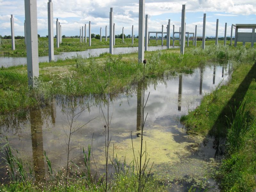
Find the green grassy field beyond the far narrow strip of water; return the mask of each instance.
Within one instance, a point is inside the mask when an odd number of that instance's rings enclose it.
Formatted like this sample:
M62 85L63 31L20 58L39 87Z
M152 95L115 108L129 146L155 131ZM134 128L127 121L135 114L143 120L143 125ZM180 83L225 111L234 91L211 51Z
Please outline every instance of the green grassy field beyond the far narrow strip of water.
M224 44L224 41L218 41L219 44ZM206 45L214 44L215 41L206 41ZM226 44L230 42L227 41ZM172 44L172 40L171 40ZM197 41L197 45L200 46L202 44L201 41ZM155 40L150 40L149 46L157 46L161 45L161 41L158 40L156 44ZM166 40L164 40L164 45L166 45ZM175 41L175 46L179 45L179 41ZM189 41L189 45L192 46L192 41ZM242 45L241 42L238 42L238 46ZM249 48L251 43L246 43L246 48ZM134 44L132 45L132 39L125 38L124 43L122 39L116 38L116 45L114 47L128 47L134 46L138 47L138 39L134 39ZM255 45L256 46L256 45ZM54 54L60 54L60 52L77 52L77 51L85 51L87 49L97 49L97 48L108 48L109 47L109 39L106 42L105 39L102 39L100 42L99 39L92 38L92 46L89 46L89 40L87 38L87 43L80 43L79 38L62 38L62 43L60 44L60 48L56 47L56 38L54 38ZM12 57L26 57L26 45L24 39L15 39L15 51L12 51L11 39L1 39L0 44L0 56L4 56L4 52L9 52ZM48 38L39 37L38 38L38 54L39 56L47 56L48 55Z

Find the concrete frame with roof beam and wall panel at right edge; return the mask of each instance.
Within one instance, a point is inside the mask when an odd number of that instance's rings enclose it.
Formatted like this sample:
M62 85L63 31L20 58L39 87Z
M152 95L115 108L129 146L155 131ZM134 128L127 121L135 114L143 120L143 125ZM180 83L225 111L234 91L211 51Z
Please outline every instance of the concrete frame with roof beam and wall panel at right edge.
M256 42L256 35L255 35L255 28L256 24L236 24L232 25L233 29L236 29L235 32L235 47L237 45L237 42L243 42L245 45L245 42L251 42L251 47L254 46L254 43ZM238 32L238 29L252 29L252 32ZM231 39L232 39L232 31L231 31ZM232 44L232 41L230 42Z

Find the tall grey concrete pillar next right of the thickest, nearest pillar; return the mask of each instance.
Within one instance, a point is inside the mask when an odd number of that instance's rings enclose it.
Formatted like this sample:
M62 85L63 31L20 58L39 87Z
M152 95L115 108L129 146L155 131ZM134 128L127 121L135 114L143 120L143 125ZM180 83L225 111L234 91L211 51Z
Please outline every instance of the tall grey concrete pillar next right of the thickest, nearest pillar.
M53 3L52 3L52 0L49 0L49 2L48 2L48 46L49 46L49 61L50 62L52 60L54 60L54 45L53 44L54 44L53 43Z

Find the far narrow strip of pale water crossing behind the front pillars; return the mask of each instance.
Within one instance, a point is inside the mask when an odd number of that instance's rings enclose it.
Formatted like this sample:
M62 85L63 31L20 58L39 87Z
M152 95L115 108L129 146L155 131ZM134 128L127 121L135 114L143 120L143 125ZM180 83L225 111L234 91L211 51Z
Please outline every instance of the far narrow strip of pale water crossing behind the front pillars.
M179 46L174 46L171 48L179 48ZM150 46L148 47L148 51L156 51L167 49L166 46ZM54 55L55 60L58 59L66 59L72 58L77 54L82 55L83 57L89 58L91 56L98 57L101 53L109 53L109 48L101 48L101 49L88 49L86 51L80 52L61 52L60 55ZM117 47L114 48L114 54L125 54L125 53L133 53L138 52L138 47ZM39 57L39 62L49 62L49 57ZM0 67L10 67L16 65L25 65L27 64L26 57L0 57Z

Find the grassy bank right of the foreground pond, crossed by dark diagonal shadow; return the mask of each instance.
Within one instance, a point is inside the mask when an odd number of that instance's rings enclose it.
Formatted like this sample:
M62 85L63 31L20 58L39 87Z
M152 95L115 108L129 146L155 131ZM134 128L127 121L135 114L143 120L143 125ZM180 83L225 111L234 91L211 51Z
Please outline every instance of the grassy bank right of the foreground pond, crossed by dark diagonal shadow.
M203 51L200 54L204 54ZM220 52L234 58L234 72L227 85L201 101L181 118L189 132L225 140L226 153L217 172L222 191L254 191L256 188L256 51ZM231 59L230 58L230 59ZM243 104L246 105L243 108ZM239 103L242 102L242 105ZM240 106L240 109L238 109ZM243 111L244 110L244 111ZM229 119L229 120L228 120Z

